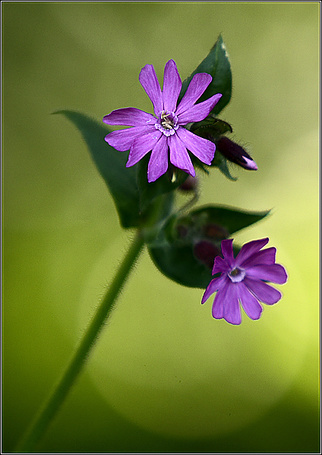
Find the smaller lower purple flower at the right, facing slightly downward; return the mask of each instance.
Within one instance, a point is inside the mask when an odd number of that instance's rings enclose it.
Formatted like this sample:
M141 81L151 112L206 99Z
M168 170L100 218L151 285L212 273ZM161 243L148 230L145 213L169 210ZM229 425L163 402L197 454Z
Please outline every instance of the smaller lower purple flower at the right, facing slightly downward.
M260 251L269 239L253 240L242 246L236 258L233 254L233 241L223 240L221 251L224 258L215 258L212 274L221 275L210 281L201 303L217 292L212 306L216 319L224 318L230 324L241 323L239 302L251 319L259 319L262 305L273 305L282 294L266 284L271 281L284 284L287 274L283 266L275 263L276 248Z

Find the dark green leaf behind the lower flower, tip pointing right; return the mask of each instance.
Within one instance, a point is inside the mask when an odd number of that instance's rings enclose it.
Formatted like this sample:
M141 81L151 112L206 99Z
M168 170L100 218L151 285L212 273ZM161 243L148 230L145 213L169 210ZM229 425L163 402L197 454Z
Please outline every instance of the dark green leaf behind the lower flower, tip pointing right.
M220 244L240 229L267 216L221 206L205 206L185 216L173 215L148 245L156 267L168 278L188 287L205 288ZM235 245L235 254L239 247Z

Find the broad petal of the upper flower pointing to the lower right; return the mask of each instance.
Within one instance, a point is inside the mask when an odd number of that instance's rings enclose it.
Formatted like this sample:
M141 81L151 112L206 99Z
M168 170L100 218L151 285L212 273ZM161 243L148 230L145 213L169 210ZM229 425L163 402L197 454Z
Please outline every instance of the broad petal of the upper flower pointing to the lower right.
M193 153L200 161L210 166L212 160L214 159L216 150L216 146L213 142L196 136L183 127L179 127L176 133L191 153Z

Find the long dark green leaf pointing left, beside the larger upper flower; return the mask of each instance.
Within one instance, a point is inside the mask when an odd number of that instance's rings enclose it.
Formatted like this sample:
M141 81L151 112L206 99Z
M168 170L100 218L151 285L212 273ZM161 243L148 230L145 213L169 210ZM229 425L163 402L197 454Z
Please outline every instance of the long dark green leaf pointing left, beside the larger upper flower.
M121 225L124 228L137 227L140 214L137 170L125 166L127 153L118 152L108 145L104 137L110 130L87 115L70 110L57 111L54 114L63 114L81 132L114 199Z

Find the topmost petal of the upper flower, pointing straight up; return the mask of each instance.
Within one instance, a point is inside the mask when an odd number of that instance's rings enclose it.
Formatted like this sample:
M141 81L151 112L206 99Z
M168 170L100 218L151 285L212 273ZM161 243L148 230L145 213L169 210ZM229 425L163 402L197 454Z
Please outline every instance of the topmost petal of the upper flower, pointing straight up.
M180 95L182 82L174 60L169 60L164 68L163 77L163 109L175 112Z

